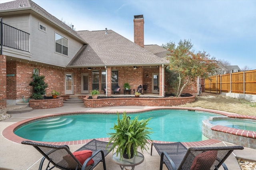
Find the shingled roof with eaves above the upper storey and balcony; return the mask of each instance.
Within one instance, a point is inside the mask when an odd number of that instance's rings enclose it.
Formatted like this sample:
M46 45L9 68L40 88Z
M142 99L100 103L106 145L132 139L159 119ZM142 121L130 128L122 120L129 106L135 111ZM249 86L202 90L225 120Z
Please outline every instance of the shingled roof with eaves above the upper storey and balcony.
M0 5L0 14L1 13L14 14L14 12L30 13L28 12L28 10L31 10L31 12L34 12L35 14L44 17L46 20L60 27L66 33L71 34L77 39L79 39L80 41L82 41L83 43L86 43L84 39L82 39L76 31L74 31L72 28L70 28L68 25L66 25L62 21L58 20L56 17L52 16L50 13L48 13L46 10L44 10L43 8L41 8L31 0L16 0L16 1L2 3Z

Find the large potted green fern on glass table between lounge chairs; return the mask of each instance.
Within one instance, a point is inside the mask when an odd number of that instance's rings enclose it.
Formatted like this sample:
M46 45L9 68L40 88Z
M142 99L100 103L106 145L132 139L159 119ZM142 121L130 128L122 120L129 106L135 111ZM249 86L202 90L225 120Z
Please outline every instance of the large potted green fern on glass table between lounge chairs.
M116 154L120 154L120 159L123 157L126 159L133 158L134 155L138 156L138 148L143 150L148 149L150 144L149 135L152 134L151 128L146 127L148 121L151 118L138 120L136 116L133 120L130 120L130 117L126 115L126 112L122 114L122 119L119 117L117 112L117 124L114 123L114 133L108 133L109 142L113 142L113 147L116 148Z

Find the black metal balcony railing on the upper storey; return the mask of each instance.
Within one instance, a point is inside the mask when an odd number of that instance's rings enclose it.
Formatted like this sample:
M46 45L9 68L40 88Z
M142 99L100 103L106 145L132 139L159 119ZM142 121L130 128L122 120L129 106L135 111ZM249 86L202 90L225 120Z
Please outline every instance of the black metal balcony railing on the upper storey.
M14 28L2 22L0 19L0 45L29 52L29 33Z

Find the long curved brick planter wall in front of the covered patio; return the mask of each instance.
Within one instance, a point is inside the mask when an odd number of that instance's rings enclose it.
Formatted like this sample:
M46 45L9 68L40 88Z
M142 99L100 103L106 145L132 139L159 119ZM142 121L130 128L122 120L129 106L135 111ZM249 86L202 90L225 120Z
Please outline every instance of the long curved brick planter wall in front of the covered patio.
M179 106L192 103L196 96L185 98L84 98L84 107L109 107L109 106Z

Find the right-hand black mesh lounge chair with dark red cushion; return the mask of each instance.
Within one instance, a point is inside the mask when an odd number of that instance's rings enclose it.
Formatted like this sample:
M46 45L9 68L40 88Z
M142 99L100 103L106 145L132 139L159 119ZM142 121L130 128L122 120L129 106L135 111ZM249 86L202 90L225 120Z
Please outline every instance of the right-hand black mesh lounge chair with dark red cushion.
M244 149L242 146L232 147L191 147L187 149L182 143L152 143L161 156L160 170L163 164L168 170L218 170L222 165L228 170L224 161L235 149Z

